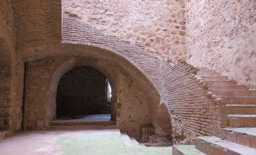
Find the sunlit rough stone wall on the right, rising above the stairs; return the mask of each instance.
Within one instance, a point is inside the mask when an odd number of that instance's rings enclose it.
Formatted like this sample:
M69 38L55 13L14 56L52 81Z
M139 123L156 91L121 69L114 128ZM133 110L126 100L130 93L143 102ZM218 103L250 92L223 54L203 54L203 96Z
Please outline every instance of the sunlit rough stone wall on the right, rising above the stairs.
M188 1L188 62L256 89L255 0Z

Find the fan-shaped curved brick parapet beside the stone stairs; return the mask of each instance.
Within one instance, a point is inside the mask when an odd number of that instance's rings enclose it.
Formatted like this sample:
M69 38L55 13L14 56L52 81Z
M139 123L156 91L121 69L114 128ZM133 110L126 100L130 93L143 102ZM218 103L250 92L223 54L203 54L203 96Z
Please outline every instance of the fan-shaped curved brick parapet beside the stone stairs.
M192 144L196 136L220 136L221 128L227 125L225 100L211 95L210 85L196 75L197 71L183 60L176 65L161 62L162 99L171 113L176 144Z

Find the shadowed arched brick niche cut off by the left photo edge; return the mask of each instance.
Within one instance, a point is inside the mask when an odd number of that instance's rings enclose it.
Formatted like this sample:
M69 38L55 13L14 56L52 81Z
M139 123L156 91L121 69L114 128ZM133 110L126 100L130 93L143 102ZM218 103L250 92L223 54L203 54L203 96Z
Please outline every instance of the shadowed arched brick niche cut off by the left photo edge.
M0 37L0 130L10 128L12 57L6 39Z

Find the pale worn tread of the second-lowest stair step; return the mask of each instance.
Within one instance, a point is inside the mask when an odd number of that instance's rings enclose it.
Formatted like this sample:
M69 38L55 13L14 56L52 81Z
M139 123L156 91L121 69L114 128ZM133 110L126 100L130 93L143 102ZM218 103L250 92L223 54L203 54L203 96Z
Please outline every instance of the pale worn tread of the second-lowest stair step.
M218 138L215 136L200 136L198 138L205 142L214 144L215 147L231 150L231 151L240 153L241 155L255 155L255 152L256 152L255 148L244 146L235 142L230 142L225 139L222 140L221 138Z

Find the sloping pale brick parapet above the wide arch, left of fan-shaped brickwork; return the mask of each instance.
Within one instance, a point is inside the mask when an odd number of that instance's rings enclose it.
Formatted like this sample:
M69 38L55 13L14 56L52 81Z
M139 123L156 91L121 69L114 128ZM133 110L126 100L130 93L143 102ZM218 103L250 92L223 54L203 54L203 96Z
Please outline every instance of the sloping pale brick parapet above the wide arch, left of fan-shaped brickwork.
M94 43L102 48L116 51L117 54L130 59L130 62L133 65L136 64L142 72L144 71L143 73L148 75L153 84L159 85L159 59L143 50L144 47L141 44L125 42L114 36L105 35L84 24L79 18L70 13L63 14L62 29L62 43Z

